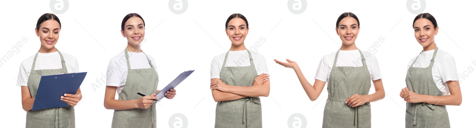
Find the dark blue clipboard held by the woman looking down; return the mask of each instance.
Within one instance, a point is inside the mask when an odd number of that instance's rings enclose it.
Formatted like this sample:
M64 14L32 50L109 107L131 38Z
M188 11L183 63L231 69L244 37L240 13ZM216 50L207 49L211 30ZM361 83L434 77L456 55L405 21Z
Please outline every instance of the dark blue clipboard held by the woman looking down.
M42 76L36 93L33 109L49 109L68 107L69 104L61 101L64 94L76 94L83 83L87 72Z

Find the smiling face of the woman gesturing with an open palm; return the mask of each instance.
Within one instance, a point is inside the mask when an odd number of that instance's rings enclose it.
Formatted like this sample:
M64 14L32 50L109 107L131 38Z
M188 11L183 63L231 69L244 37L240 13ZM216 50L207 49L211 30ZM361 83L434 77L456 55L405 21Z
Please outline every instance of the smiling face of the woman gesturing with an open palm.
M355 43L357 39L360 27L358 22L353 17L345 17L339 22L339 26L336 28L337 35L339 35L342 43L350 45Z

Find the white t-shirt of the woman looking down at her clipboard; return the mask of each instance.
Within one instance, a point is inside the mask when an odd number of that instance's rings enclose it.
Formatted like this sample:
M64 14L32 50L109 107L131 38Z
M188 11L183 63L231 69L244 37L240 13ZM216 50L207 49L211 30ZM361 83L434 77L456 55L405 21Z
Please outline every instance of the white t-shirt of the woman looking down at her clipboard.
M61 54L63 55L63 59L65 61L68 72L78 72L79 68L76 57L64 52L61 52ZM33 59L35 59L35 55L32 55L21 62L20 71L18 71L17 86L28 86L28 77L30 77L31 66L33 66ZM50 53L38 53L34 70L59 68L63 68L63 65L61 65L61 57L58 51Z

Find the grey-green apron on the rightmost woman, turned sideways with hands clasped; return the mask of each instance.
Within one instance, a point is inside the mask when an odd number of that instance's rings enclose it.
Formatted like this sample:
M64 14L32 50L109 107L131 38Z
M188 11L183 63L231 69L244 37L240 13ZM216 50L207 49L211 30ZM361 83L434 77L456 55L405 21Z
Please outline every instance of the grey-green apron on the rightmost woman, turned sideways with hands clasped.
M435 62L436 52L435 48L433 58L431 58L430 65L426 68L416 68L413 61L407 71L407 87L410 91L417 94L442 96L441 91L436 87L433 81L432 68ZM420 52L421 53L421 52ZM406 128L450 128L448 112L445 105L434 105L425 102L407 103L407 114L405 116Z

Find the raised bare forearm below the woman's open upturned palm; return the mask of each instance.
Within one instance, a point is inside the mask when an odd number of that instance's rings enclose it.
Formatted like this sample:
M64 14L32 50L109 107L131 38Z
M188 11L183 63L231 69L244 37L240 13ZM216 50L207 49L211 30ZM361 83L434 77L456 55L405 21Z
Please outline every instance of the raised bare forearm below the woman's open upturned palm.
M320 93L317 94L316 89L313 85L309 83L309 81L307 81L306 77L304 77L304 74L302 73L301 68L299 68L299 66L296 65L296 67L293 69L296 72L297 78L299 79L299 82L301 82L302 88L306 92L309 99L311 101L315 101L317 97L319 97Z

